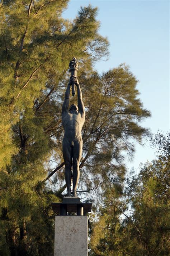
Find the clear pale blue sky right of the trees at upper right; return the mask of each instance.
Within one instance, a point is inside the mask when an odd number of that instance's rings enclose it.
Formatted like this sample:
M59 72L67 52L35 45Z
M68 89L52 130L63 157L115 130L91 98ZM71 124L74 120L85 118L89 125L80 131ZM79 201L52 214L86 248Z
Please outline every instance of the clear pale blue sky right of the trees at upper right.
M152 113L142 125L152 133L169 131L169 1L71 0L63 17L74 18L80 6L89 3L98 6L99 32L110 42L109 60L96 63L95 68L102 72L128 64L139 80L143 105ZM151 161L154 154L153 149L136 144L128 167L137 170L140 162Z

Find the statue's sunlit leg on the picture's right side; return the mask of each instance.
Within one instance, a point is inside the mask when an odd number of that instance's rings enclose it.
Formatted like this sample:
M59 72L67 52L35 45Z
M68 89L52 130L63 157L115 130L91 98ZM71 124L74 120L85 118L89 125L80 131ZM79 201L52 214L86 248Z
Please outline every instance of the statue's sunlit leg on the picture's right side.
M77 196L77 184L80 177L80 171L79 171L79 163L81 160L81 154L82 154L82 140L77 140L74 144L74 147L72 148L72 184L73 184L73 190L72 190L72 196Z

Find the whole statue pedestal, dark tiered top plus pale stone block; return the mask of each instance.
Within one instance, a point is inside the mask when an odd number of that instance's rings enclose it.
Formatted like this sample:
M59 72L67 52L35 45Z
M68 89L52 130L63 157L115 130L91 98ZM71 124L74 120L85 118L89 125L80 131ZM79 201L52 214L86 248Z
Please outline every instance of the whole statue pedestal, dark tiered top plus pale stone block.
M81 203L79 197L64 197L63 203L51 204L55 216L54 256L88 255L88 217L91 203ZM69 215L67 215L69 212ZM71 216L71 212L77 215Z

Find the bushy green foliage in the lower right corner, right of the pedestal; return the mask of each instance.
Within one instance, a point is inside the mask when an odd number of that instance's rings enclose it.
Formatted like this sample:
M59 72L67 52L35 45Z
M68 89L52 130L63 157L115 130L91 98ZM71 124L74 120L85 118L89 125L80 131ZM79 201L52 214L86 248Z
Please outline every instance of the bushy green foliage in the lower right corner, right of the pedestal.
M141 166L138 175L132 173L123 193L108 189L93 224L91 255L169 255L168 137L151 138L152 146L160 146L158 159Z

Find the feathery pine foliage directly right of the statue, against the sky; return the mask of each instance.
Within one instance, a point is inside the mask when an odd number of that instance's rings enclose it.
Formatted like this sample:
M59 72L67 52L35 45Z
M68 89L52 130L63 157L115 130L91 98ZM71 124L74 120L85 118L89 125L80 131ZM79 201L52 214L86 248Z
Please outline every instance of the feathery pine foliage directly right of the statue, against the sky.
M123 181L122 152L133 156L132 139L141 142L141 138L147 135L147 129L139 122L150 116L150 112L143 109L138 99L137 80L124 64L102 75L83 72L80 85L86 109L80 190L88 191L93 185L98 187L95 193L99 192L100 198L110 181L116 184Z

